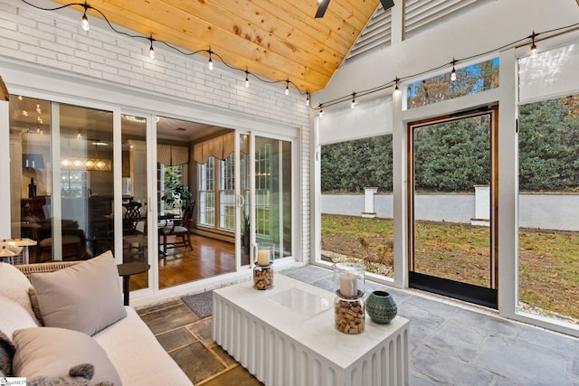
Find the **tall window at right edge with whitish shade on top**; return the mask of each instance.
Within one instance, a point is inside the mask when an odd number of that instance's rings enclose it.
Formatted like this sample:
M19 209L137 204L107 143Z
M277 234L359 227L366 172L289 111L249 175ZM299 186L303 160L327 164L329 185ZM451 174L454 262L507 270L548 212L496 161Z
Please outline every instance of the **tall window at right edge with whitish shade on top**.
M518 310L574 324L579 324L578 63L576 43L518 61Z

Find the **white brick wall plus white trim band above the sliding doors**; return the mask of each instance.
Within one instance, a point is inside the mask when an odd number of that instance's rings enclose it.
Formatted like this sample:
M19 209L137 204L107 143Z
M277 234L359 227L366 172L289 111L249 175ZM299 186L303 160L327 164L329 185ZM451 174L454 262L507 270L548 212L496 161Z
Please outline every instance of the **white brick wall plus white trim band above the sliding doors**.
M47 0L34 4L56 6ZM299 207L294 227L299 233L294 254L307 261L310 111L305 99L291 89L286 96L285 82L271 85L252 80L247 89L243 71L231 71L215 58L214 71L209 71L206 57L185 56L161 43L155 44L156 58L151 60L147 40L114 33L94 17L90 17L90 31L84 32L80 16L78 10L47 12L20 1L0 0L0 75L8 90L33 98L72 104L80 100L87 106L255 130L271 137L296 133L294 193ZM7 115L0 112L0 118L0 127L7 132ZM9 165L8 151L2 152L4 181L9 181ZM8 216L0 221L0 229L10 229Z

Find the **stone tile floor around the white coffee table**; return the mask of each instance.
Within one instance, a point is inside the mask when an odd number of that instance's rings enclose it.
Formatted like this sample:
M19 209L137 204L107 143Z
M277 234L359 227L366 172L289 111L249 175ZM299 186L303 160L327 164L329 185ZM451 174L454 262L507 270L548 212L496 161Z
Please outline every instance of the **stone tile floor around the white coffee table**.
M331 289L330 270L282 272ZM441 301L366 281L365 292L390 292L409 319L411 385L579 385L579 340L504 319L475 306ZM211 338L211 316L199 318L178 299L138 310L195 385L261 385Z

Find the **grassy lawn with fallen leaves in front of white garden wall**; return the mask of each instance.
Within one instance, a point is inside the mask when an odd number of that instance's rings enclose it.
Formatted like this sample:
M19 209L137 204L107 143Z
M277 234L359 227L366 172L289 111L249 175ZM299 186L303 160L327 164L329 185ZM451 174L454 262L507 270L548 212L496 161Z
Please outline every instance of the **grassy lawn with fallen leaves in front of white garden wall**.
M489 228L423 221L415 237L417 272L489 286ZM392 277L393 241L392 220L322 215L322 249L335 261ZM579 232L519 232L519 297L546 315L579 319Z

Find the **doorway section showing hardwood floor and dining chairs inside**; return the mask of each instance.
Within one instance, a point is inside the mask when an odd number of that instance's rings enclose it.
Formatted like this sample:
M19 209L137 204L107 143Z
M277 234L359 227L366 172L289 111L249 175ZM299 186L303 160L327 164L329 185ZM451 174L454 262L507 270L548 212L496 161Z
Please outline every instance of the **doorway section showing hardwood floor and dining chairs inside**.
M156 123L159 287L234 272L234 130L165 117Z

